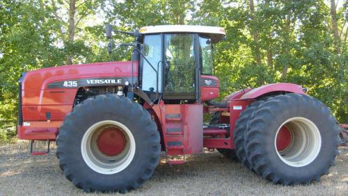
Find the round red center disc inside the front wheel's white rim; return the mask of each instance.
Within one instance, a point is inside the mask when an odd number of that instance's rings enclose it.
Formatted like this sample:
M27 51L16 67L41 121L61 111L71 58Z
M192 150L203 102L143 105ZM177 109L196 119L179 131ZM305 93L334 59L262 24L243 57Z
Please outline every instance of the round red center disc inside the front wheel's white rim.
M126 142L122 131L116 128L107 128L98 136L97 146L102 154L117 156L125 149Z

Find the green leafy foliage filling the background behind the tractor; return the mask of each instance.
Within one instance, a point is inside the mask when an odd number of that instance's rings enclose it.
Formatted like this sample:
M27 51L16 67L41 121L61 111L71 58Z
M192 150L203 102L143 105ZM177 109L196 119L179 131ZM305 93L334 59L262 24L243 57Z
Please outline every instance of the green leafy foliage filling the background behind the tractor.
M22 72L64 65L67 56L73 63L130 59L124 47L107 54L104 26L109 23L121 31L158 24L221 26L226 40L214 46L221 98L264 83L298 83L329 106L339 122L348 123L347 2L335 15L338 52L330 3L324 0L254 1L253 14L250 0L77 0L72 42L68 41L68 1L0 2L0 140L15 136L17 79ZM116 44L132 41L127 35L114 38ZM261 63L255 60L257 51Z

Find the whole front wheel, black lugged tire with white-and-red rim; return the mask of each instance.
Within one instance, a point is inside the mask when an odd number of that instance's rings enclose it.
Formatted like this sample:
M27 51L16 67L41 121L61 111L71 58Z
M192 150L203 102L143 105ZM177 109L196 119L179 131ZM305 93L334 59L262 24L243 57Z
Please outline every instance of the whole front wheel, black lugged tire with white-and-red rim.
M56 142L65 177L86 192L138 188L152 176L161 150L150 114L134 101L111 94L75 106Z

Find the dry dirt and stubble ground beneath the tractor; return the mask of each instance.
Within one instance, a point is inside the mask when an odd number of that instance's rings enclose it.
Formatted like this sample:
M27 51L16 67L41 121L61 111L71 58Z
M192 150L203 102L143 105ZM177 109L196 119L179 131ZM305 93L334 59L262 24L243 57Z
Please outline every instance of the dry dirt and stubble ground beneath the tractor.
M0 146L0 195L97 195L65 179L54 149L31 156L28 145ZM153 177L127 195L348 195L348 147L340 152L330 174L310 186L274 185L219 152L189 156L187 164L176 166L162 157Z

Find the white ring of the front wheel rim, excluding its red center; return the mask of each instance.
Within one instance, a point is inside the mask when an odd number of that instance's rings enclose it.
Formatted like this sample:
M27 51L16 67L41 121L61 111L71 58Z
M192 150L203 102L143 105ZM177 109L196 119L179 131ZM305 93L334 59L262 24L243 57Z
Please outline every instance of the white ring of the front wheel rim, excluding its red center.
M117 127L117 129L122 130L127 140L127 145L121 154L117 156L106 156L100 154L100 152L95 149L93 133L100 129L105 129L105 127ZM86 133L84 133L84 137L81 141L81 154L85 163L90 169L100 174L116 174L125 170L132 162L135 150L136 145L132 132L124 124L113 120L104 120L93 124L88 128Z

